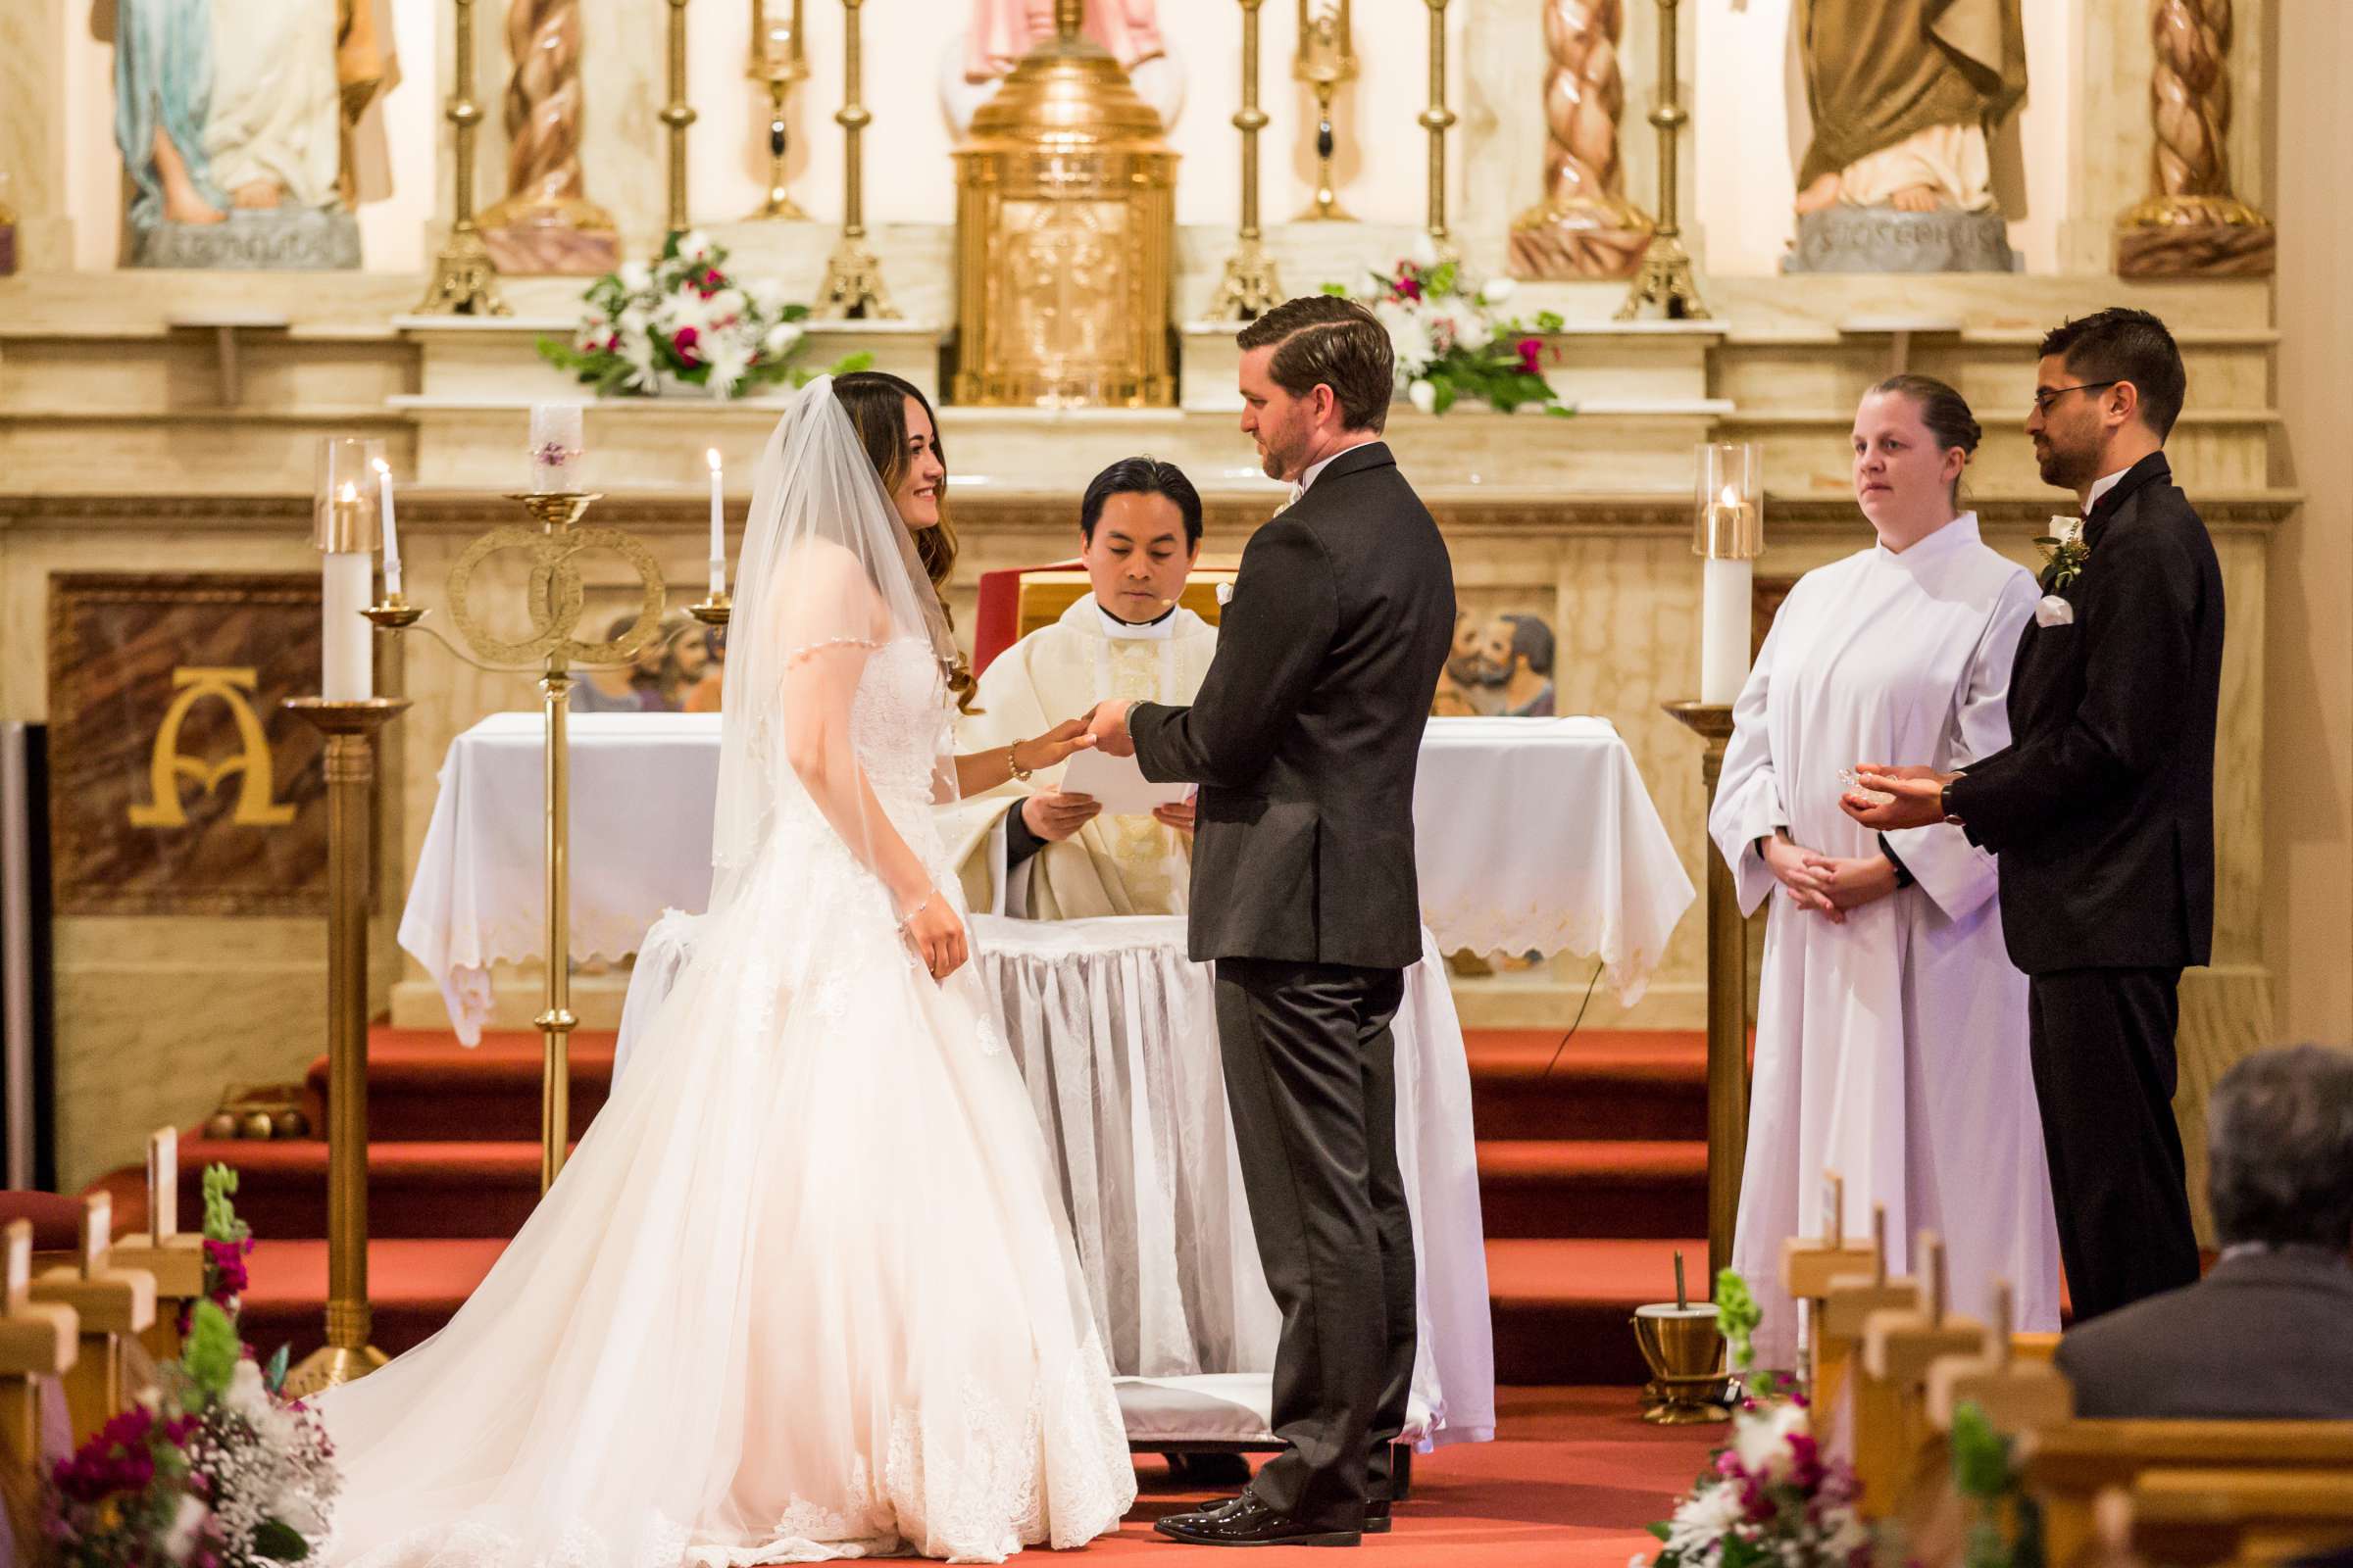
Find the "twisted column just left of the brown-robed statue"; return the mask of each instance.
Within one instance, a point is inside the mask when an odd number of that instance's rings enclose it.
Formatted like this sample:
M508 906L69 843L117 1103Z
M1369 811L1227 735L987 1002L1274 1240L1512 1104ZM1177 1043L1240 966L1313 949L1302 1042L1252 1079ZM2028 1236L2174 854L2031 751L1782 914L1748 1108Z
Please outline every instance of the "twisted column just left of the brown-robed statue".
M1624 0L1544 5L1544 202L1511 226L1520 277L1631 277L1649 219L1626 200L1619 122Z

